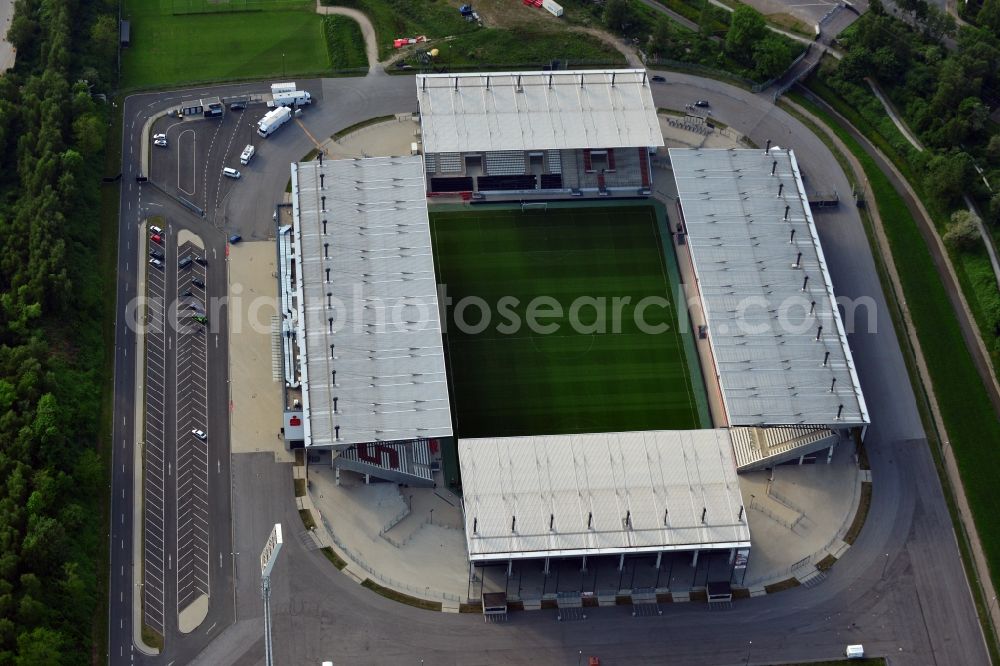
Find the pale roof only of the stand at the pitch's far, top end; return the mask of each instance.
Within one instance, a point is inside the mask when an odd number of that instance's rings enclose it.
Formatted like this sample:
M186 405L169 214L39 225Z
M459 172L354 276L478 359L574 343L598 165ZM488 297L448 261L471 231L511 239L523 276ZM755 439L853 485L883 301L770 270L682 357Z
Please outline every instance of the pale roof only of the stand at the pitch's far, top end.
M420 74L424 152L662 146L645 70Z

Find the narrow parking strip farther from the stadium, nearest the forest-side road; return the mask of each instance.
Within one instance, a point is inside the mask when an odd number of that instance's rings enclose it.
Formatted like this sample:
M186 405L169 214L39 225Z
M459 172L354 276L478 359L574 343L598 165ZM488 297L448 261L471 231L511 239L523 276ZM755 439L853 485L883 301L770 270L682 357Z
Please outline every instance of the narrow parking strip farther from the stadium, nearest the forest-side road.
M164 627L164 577L167 567L166 520L166 244L149 241L151 251L164 252L161 266L146 271L146 430L143 488L143 621L160 634Z

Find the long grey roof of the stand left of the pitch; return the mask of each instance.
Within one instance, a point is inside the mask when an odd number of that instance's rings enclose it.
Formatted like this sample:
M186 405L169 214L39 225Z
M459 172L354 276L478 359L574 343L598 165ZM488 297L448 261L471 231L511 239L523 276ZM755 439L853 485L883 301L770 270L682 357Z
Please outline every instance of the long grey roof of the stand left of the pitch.
M293 164L292 206L306 446L451 435L421 157Z

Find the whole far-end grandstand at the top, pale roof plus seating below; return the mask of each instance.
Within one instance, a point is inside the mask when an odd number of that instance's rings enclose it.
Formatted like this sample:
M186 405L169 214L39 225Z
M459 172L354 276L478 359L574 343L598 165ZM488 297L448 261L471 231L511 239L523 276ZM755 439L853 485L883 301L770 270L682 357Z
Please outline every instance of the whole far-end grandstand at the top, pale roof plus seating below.
M429 195L650 194L644 70L422 74L417 97Z

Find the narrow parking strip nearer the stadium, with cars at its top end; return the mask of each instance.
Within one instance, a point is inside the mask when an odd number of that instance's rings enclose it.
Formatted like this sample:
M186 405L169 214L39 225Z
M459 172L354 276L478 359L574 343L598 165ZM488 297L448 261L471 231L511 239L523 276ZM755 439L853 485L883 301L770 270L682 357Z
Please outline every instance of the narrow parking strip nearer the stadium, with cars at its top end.
M207 271L205 251L177 251L177 610L209 594Z

